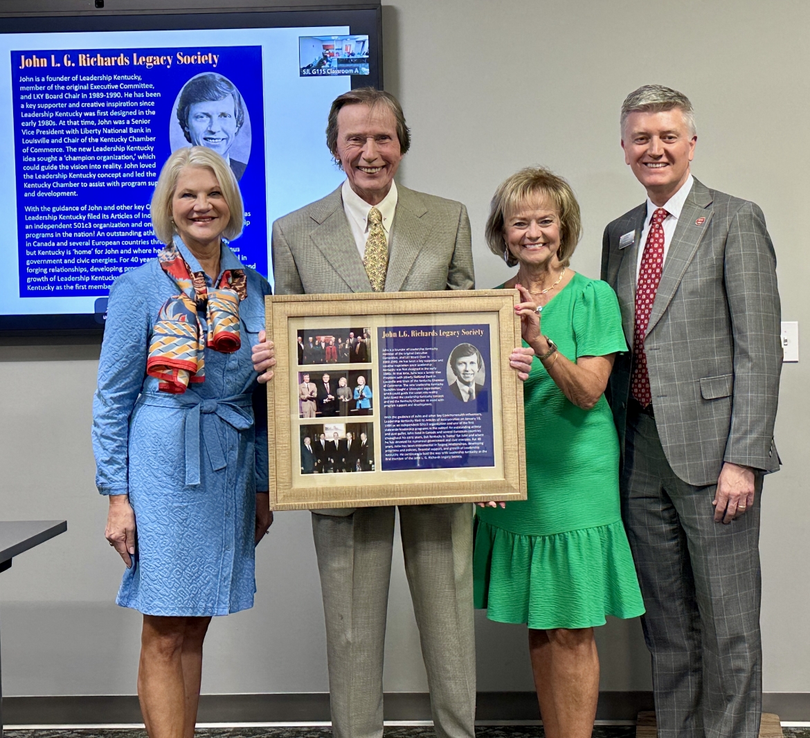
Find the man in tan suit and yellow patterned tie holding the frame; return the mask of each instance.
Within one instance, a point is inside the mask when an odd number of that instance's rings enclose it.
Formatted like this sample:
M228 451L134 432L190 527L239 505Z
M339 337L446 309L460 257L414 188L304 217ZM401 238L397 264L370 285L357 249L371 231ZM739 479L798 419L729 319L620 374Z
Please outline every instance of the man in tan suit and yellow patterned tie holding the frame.
M326 143L347 178L273 224L276 294L474 287L465 207L394 183L410 146L394 96L371 87L339 96ZM254 352L258 371L271 366L269 356ZM366 449L370 469L368 444L360 458ZM394 508L317 510L312 518L335 738L382 736ZM471 506L402 506L399 520L437 735L473 738Z

